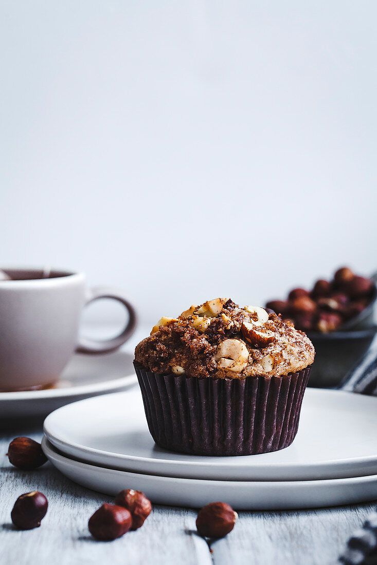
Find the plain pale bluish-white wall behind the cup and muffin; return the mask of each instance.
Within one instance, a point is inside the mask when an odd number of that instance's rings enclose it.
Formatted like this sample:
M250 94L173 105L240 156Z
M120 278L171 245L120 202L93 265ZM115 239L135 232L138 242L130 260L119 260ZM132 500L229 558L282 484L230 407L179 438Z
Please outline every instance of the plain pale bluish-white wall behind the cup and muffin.
M377 268L375 0L0 6L3 265L148 322Z

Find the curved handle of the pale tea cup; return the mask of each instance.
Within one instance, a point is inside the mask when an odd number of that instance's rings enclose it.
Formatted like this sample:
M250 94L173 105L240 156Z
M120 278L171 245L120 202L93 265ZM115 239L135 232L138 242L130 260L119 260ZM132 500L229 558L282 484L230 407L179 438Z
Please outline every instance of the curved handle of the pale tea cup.
M120 333L119 336L110 338L109 340L94 340L88 337L80 336L76 349L76 351L79 351L79 353L109 353L110 351L114 351L115 349L118 349L118 347L123 345L135 331L135 308L131 305L130 302L128 302L127 298L121 290L109 288L107 286L98 286L96 288L88 289L85 306L87 306L91 302L94 302L98 298L112 298L113 300L121 302L121 304L125 306L128 312L128 322L125 329L123 329L122 333Z

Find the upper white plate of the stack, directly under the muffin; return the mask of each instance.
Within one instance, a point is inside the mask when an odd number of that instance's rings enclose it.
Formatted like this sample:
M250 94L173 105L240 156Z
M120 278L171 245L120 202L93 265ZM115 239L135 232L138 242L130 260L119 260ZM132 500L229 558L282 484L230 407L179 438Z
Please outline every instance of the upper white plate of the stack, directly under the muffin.
M377 474L377 398L307 389L298 434L281 451L203 457L165 451L149 434L139 388L60 408L45 420L68 457L113 469L212 480L313 480Z

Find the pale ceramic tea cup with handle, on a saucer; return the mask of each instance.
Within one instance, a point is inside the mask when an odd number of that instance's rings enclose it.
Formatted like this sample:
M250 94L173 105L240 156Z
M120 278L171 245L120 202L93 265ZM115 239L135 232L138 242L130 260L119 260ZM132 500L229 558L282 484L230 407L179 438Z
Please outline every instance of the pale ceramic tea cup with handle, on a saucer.
M0 391L52 385L75 350L106 353L121 346L134 332L134 307L120 290L87 289L85 275L43 269L3 271L0 281ZM112 298L126 307L128 323L109 340L79 337L83 307L98 298ZM1 415L0 415L1 416Z

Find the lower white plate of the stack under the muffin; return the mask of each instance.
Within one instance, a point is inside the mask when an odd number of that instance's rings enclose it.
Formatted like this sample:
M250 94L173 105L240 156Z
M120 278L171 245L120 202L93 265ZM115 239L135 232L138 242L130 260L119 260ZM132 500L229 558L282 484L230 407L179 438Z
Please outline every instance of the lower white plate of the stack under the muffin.
M142 475L96 467L58 453L44 438L46 456L75 483L114 496L142 490L152 502L200 507L220 500L235 509L284 510L365 502L377 498L377 475L322 481L207 481Z

